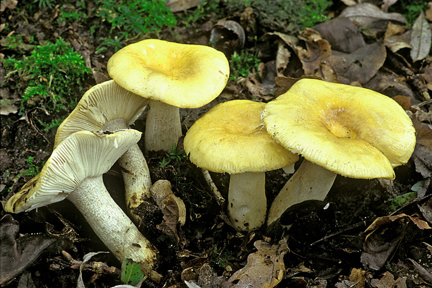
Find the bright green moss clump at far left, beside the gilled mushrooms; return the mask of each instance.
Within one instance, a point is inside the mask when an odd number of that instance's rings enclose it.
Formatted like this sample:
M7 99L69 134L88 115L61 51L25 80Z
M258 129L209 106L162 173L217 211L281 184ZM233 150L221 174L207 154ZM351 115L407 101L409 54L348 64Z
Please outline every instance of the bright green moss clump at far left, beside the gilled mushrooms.
M8 71L6 78L15 80L15 88L23 96L21 114L36 104L47 112L73 109L84 76L91 72L83 57L62 38L55 44L36 46L22 59L4 59L3 64Z

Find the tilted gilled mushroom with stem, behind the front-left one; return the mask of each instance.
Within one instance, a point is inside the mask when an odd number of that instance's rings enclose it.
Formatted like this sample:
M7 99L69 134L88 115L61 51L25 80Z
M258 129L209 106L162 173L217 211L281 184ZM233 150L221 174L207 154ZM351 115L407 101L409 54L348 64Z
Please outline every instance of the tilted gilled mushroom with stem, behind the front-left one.
M90 88L72 113L57 129L54 149L69 135L81 131L117 131L128 129L146 109L149 100L121 88L113 80ZM119 159L125 182L126 206L139 222L134 210L152 198L151 180L146 159L135 143Z

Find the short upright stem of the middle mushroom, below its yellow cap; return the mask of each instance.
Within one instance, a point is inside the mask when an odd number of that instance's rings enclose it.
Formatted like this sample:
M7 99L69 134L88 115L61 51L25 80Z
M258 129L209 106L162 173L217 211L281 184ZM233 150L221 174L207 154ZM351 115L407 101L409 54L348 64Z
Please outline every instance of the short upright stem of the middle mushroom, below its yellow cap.
M265 173L231 174L228 189L228 215L238 231L253 231L265 221Z

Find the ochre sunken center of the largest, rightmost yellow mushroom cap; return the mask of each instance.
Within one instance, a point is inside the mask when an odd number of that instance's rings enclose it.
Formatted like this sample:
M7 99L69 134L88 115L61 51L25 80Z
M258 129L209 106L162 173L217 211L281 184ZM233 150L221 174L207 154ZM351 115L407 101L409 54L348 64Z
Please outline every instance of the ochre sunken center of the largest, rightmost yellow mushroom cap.
M357 138L356 122L353 115L344 107L329 107L321 118L328 131L337 137Z

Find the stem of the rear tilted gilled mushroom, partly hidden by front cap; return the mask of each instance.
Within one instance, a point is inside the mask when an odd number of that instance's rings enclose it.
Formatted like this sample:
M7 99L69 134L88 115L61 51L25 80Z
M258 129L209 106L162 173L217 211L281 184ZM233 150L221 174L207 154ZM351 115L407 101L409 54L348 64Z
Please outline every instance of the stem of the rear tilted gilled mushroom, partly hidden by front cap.
M102 130L117 131L122 129L129 129L125 119L112 120ZM118 163L125 182L126 206L134 220L139 221L140 219L133 212L133 209L152 197L150 193L152 181L146 158L139 149L138 144L134 144L125 154L121 155Z

